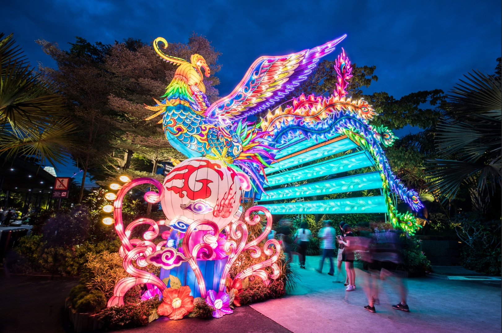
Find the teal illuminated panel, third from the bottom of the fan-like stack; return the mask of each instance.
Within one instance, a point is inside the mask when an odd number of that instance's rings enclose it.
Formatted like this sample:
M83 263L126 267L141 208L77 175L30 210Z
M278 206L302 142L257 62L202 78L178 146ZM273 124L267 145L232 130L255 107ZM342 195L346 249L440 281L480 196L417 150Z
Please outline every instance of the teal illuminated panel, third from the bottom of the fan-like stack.
M366 151L353 152L324 162L267 177L269 187L370 167L373 159Z

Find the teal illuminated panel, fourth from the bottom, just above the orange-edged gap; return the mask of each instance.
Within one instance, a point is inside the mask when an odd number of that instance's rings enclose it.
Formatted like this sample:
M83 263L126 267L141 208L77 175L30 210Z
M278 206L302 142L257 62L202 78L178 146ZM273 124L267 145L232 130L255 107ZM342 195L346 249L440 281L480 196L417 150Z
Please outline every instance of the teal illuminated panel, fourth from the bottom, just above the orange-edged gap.
M303 141L302 141L303 142ZM271 174L273 172L283 170L286 168L294 167L295 165L302 164L305 162L313 161L314 159L326 157L329 155L336 154L338 152L346 151L357 147L352 140L345 138L339 141L331 142L324 146L317 147L315 149L309 150L307 152L298 154L296 156L286 158L280 162L274 163L270 168L265 169L265 174Z

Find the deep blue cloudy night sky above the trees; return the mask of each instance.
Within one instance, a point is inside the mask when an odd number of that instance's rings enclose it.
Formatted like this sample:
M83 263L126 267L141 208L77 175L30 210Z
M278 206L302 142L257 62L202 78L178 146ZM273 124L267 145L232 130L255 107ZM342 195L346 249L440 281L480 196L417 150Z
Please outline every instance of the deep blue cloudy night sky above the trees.
M129 37L187 42L195 31L222 52L216 87L221 96L259 56L313 48L343 34L348 36L339 47L353 63L376 66L379 80L365 92L387 91L396 98L419 90L448 91L471 69L492 74L501 54L499 0L7 0L0 12L0 31L14 33L33 66L53 65L35 44L39 38L68 49L75 36L103 43ZM334 59L339 47L326 59Z

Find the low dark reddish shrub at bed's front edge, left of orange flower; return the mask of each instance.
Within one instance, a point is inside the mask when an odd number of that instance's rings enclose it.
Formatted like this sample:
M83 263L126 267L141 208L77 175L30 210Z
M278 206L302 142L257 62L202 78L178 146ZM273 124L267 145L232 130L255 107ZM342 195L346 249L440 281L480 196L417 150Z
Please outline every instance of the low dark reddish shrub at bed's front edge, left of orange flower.
M99 314L105 328L126 328L148 324L150 312L162 301L158 296L138 303L126 303L105 308Z

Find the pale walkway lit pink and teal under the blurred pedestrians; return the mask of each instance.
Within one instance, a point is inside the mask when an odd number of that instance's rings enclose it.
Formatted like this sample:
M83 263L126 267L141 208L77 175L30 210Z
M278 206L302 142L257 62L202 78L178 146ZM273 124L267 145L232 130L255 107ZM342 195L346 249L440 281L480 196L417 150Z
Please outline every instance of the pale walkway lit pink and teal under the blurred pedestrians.
M384 284L381 304L371 313L363 309L367 305L363 271L356 268L357 289L347 292L342 283L332 283L331 276L314 270L318 258L307 257L307 269L301 270L302 281L293 295L251 307L295 333L501 331L500 284L410 278L411 312L391 307L399 303L399 295ZM328 268L325 263L324 271Z

